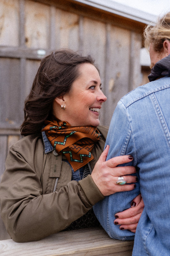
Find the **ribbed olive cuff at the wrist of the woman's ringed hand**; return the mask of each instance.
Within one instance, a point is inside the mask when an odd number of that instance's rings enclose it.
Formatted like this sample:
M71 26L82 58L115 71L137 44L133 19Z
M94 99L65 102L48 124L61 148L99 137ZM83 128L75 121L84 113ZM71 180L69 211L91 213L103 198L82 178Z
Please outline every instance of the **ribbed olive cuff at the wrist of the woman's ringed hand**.
M91 205L98 203L104 198L90 174L87 175L87 177L85 177L83 180L79 180L78 183Z

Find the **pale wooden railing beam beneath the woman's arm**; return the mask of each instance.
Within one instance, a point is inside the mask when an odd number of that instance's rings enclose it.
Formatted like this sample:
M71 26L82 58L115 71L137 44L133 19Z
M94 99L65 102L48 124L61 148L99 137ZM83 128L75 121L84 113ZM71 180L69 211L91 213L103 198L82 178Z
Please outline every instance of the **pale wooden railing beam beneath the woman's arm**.
M110 238L103 228L63 231L40 241L0 241L1 256L131 256L133 241Z

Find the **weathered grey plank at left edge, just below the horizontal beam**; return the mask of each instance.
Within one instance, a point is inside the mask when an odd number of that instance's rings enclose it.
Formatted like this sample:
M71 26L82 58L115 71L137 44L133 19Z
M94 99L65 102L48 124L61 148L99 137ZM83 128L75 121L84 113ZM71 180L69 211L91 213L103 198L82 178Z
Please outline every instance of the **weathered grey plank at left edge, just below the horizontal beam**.
M0 122L7 126L21 123L19 68L18 59L0 59Z

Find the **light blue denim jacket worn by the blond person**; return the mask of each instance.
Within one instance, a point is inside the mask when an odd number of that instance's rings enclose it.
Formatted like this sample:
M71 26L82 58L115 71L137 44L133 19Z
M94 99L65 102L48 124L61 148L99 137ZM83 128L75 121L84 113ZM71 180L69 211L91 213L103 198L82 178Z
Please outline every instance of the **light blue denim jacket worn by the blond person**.
M107 159L131 155L139 183L115 193L93 209L112 238L128 240L134 233L114 224L115 213L130 207L140 191L144 211L135 234L133 256L170 255L170 77L163 77L125 95L117 104L106 145Z

